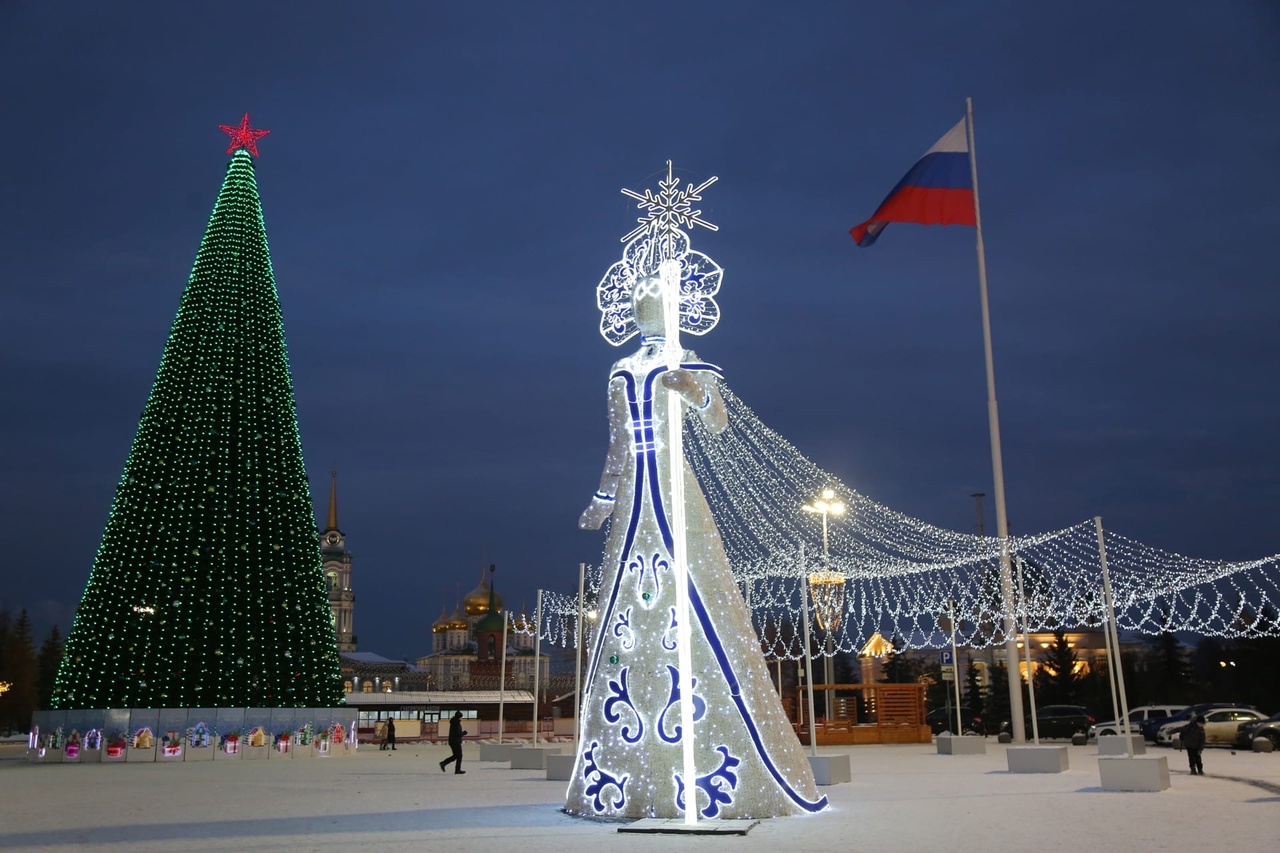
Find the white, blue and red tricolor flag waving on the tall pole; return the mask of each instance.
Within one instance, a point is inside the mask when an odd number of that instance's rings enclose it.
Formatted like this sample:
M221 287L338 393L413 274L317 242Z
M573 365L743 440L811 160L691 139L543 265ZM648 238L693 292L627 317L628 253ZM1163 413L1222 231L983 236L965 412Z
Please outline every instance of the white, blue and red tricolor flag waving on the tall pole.
M920 225L977 224L965 119L960 119L959 124L924 152L870 219L851 228L849 233L859 246L870 246L891 222L914 222Z

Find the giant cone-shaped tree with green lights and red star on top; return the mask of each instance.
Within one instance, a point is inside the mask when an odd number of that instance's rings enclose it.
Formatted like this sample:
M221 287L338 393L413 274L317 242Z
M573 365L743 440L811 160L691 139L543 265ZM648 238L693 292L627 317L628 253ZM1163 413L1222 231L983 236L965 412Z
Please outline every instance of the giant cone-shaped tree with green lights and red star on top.
M160 357L54 708L326 707L338 652L253 174L232 160Z

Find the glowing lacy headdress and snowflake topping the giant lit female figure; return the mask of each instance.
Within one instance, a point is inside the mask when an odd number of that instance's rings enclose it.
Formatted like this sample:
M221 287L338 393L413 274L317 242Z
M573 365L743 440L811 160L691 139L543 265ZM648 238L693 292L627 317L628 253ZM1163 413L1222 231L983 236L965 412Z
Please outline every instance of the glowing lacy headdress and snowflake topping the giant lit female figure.
M644 213L636 219L639 225L622 238L626 243L622 260L608 269L595 288L600 334L616 347L640 332L631 301L636 283L657 274L658 264L666 259L680 263L680 329L707 334L719 323L719 305L713 297L719 292L724 270L707 255L694 251L689 234L681 231L681 227L691 229L694 225L719 231L701 218L701 210L692 209L694 202L703 200L701 192L718 178L709 178L698 187L690 183L681 190L671 172L671 160L667 160L667 178L658 181L657 195L652 190L645 190L644 195L622 191L635 199Z

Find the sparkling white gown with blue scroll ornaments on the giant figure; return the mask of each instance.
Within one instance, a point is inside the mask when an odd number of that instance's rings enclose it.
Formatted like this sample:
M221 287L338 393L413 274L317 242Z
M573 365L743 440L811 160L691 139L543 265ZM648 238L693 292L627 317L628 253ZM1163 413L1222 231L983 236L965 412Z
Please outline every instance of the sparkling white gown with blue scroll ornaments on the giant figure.
M660 316L636 314L641 332L662 328ZM718 377L687 350L669 371L654 337L609 377L608 460L580 521L595 529L611 517L570 813L684 816L667 389L719 432ZM782 711L707 500L684 467L699 818L819 811L827 799Z

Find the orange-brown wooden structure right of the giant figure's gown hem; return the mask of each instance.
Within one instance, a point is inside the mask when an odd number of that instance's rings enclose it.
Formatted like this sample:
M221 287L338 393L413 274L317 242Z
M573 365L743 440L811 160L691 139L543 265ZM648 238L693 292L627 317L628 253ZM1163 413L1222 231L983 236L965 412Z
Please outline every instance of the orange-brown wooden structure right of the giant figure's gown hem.
M818 745L931 743L933 733L924 722L924 686L881 683L815 684L814 693L840 690L858 694L836 697L832 703L835 716L829 720L818 717L817 725L812 726L817 733ZM795 701L783 702L783 706L787 711L800 710L800 715L792 716L791 720L800 743L808 745L810 726L804 713L806 708L804 688L797 688Z

